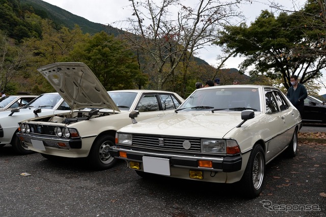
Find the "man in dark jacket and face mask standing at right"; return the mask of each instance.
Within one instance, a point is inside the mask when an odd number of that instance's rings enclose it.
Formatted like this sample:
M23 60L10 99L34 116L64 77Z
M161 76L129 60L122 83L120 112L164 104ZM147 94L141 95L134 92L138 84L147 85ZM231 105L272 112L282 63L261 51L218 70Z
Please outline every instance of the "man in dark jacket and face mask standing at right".
M290 102L299 110L301 117L304 113L305 108L305 99L307 98L307 89L303 84L297 82L297 76L292 75L290 77L290 82L292 86L287 90L286 97Z

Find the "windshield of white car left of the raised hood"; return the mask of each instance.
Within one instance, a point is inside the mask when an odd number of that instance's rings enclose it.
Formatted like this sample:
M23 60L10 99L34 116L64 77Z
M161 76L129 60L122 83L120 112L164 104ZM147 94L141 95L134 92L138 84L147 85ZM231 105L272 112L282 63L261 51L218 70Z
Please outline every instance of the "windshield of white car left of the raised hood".
M23 108L31 108L31 107L41 107L52 109L57 105L57 103L61 100L61 96L58 94L45 94L41 95L29 104L25 105Z

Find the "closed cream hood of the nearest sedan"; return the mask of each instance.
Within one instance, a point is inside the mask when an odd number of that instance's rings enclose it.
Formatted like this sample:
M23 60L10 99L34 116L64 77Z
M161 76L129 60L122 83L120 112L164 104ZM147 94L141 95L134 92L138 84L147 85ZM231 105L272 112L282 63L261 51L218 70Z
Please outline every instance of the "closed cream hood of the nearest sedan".
M135 118L137 120L137 118ZM242 121L241 112L178 112L128 125L125 133L223 138ZM149 131L150 129L150 131Z

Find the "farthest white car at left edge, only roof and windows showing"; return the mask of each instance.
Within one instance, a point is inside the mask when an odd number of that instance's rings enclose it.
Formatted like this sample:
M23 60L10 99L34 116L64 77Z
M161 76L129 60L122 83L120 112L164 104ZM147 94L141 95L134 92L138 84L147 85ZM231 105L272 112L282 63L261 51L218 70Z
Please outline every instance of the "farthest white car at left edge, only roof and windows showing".
M23 107L37 97L32 95L2 97L0 98L0 111Z

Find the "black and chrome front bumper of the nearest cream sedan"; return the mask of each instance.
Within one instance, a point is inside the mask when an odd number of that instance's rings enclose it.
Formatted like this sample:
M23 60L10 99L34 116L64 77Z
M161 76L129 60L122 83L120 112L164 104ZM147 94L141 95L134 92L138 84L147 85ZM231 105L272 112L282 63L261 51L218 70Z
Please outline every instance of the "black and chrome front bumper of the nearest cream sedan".
M126 152L126 158L120 157L119 152ZM126 161L134 161L143 163L143 157L154 157L161 159L168 159L170 167L180 167L187 169L201 169L217 172L235 172L241 170L242 157L241 156L226 156L226 157L210 157L210 156L189 156L179 153L158 153L143 150L134 150L113 146L110 148L111 156ZM200 167L199 161L211 161L212 167Z

